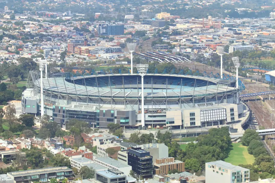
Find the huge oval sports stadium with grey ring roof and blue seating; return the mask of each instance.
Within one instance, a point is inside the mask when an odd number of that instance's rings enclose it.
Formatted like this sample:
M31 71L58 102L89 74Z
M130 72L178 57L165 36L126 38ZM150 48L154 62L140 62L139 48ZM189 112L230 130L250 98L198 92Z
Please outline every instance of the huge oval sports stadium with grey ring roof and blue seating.
M236 81L190 73L144 76L144 129L208 127L238 121L243 106ZM24 114L41 115L40 77L39 71L29 73L27 89L22 94ZM69 73L57 73L43 74L42 78L44 114L61 127L77 119L91 127L117 123L141 129L139 74L71 77Z

